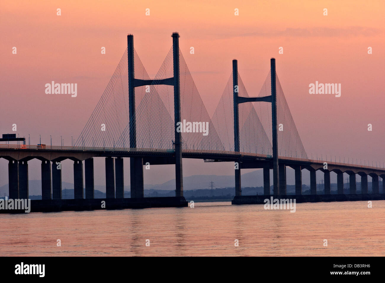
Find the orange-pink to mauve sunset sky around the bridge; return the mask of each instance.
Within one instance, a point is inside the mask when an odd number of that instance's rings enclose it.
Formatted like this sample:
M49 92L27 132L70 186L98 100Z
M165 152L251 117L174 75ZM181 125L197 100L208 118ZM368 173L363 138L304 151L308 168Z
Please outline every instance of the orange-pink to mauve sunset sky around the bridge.
M56 15L57 8L61 16ZM234 15L235 8L239 16ZM328 9L327 16L323 8ZM12 132L15 123L20 136L31 134L32 144L39 142L41 134L45 144L50 135L53 144L60 144L62 135L69 145L107 86L126 49L127 33L134 34L135 49L154 76L171 48L171 33L177 31L210 116L231 74L233 58L238 59L239 74L253 95L266 78L270 57L275 57L309 156L383 162L384 8L384 1L351 0L2 1L0 131ZM12 54L14 46L17 54ZM100 54L102 46L105 55ZM189 54L191 46L195 54ZM283 54L278 54L280 46ZM52 80L77 83L77 97L45 95L44 85ZM341 97L309 94L308 85L316 80L341 83ZM372 132L367 131L369 123ZM186 162L185 176L224 174L225 167L226 174L233 174L231 164L208 171L208 165L197 162ZM2 159L0 168L5 172L6 164ZM40 168L35 171L30 179L39 179ZM0 186L8 182L2 175ZM68 178L73 179L70 171ZM162 183L174 176L163 178L147 180Z

